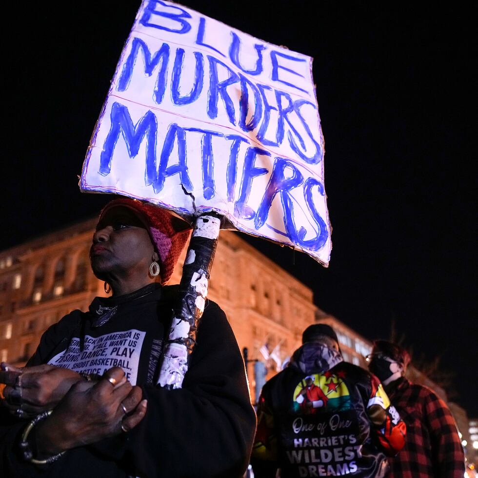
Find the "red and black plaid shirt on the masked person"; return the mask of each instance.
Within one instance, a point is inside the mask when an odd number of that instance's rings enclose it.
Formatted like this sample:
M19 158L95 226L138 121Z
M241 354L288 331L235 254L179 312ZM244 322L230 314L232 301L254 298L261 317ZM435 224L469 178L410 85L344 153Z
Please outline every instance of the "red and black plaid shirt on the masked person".
M388 390L407 425L405 446L389 458L394 478L463 478L465 458L455 420L435 392L399 379Z

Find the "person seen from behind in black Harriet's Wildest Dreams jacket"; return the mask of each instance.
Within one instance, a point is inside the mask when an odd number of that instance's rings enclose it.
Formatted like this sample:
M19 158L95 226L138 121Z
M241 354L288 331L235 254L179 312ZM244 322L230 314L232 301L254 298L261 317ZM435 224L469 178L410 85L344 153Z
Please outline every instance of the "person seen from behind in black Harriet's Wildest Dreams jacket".
M289 365L262 388L252 451L256 478L386 476L406 427L379 380L344 362L334 330L305 329Z

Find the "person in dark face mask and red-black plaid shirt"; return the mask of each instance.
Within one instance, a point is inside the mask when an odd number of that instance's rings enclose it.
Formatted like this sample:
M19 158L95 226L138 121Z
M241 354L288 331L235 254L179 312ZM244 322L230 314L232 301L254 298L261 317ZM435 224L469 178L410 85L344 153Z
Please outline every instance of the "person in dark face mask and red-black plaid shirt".
M407 425L405 446L388 458L389 477L462 478L465 458L455 420L435 392L403 377L410 362L407 351L377 340L367 360Z

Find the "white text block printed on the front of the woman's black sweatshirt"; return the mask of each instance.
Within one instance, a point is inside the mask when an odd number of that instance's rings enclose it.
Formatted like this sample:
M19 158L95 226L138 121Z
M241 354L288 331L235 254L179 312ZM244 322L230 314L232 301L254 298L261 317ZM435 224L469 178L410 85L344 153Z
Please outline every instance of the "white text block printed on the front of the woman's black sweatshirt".
M132 385L138 378L138 364L146 332L136 329L114 332L100 337L73 338L67 349L50 359L50 365L68 368L78 373L102 375L111 367L120 367Z

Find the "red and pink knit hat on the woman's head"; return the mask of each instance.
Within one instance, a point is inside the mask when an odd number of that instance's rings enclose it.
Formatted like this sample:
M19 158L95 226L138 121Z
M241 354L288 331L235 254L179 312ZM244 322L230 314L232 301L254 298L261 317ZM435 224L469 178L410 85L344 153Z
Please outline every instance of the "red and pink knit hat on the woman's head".
M170 214L166 209L130 198L113 199L108 202L101 210L98 222L107 211L119 206L133 211L145 225L159 255L161 284L165 284L173 274L179 254L189 238L191 226L186 221Z

